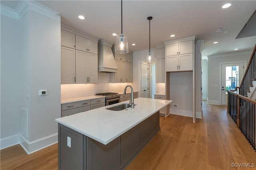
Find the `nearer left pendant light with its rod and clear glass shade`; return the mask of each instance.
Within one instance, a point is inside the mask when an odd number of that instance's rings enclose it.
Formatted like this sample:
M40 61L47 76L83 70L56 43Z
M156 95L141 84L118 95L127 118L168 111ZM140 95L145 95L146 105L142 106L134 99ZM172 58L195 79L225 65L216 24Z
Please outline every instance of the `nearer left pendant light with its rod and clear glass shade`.
M126 54L129 52L128 41L126 35L123 34L123 2L121 0L121 34L116 35L115 52L118 54Z

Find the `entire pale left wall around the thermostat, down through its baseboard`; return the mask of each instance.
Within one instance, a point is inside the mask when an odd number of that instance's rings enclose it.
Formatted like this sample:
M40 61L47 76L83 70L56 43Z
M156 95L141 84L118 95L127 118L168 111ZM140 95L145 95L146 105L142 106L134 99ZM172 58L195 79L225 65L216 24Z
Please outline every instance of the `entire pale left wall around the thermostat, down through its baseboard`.
M14 11L16 21L1 15L1 149L18 137L31 153L58 142L60 16L36 2L21 3L25 8L20 15ZM39 96L44 89L48 95Z

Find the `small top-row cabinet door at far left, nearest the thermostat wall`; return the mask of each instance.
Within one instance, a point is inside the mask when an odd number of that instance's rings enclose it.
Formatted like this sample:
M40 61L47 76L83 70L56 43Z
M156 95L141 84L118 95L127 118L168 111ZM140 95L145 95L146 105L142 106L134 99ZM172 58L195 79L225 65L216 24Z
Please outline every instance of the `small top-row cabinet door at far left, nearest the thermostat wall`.
M61 43L60 45L74 49L76 47L75 34L65 30L61 30Z

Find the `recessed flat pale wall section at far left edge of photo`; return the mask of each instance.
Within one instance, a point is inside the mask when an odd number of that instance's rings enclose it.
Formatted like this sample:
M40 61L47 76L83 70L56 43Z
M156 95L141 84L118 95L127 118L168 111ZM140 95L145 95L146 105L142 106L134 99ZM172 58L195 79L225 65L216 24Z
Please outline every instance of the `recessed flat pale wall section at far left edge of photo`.
M1 15L1 139L20 133L19 29L18 20Z

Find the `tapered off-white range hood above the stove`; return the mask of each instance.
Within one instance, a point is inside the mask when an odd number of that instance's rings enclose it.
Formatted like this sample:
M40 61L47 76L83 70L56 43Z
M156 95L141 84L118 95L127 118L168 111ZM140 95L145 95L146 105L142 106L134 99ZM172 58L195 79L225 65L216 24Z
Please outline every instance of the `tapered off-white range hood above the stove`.
M116 61L112 53L113 43L100 39L98 42L98 72L117 72Z

